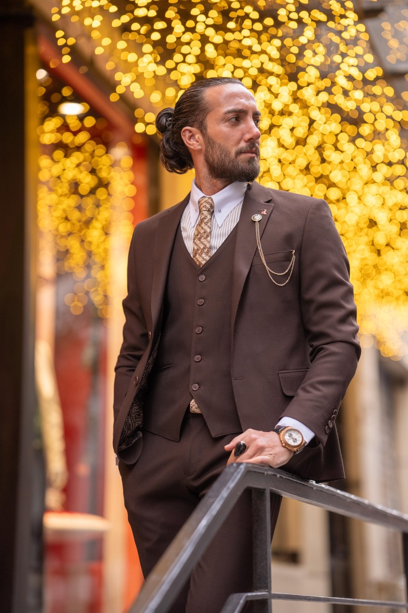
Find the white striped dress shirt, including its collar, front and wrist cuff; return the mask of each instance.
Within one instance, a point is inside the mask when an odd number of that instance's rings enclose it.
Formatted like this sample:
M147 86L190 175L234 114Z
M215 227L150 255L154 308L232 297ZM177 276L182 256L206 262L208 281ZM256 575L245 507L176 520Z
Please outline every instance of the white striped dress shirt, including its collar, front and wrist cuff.
M227 185L226 188L221 189L221 191L217 192L217 194L210 196L214 203L214 210L211 216L210 234L210 248L212 254L214 254L215 251L220 248L224 240L228 237L229 233L237 225L246 189L247 183L240 183L239 181L236 181L235 183L230 183ZM203 194L202 191L198 189L196 186L196 180L193 179L190 201L188 202L180 221L183 240L191 257L193 257L194 231L200 218L198 200L202 196L206 196L206 194ZM214 219L216 223L214 223ZM302 432L306 443L309 443L314 436L314 432L312 432L310 428L292 417L283 417L276 424L276 427L278 426L291 426L292 428L297 428L297 430Z

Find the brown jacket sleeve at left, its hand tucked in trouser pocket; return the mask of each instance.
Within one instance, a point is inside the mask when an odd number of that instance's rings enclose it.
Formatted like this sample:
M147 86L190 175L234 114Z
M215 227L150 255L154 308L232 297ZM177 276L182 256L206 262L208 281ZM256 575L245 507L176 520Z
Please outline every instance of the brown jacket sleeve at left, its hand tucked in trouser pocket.
M138 284L135 267L135 243L137 242L137 226L130 242L127 266L128 294L123 301L125 324L123 329L123 343L121 352L115 366L113 413L116 420L119 409L124 401L130 379L132 378L139 360L147 348L146 322L139 300Z

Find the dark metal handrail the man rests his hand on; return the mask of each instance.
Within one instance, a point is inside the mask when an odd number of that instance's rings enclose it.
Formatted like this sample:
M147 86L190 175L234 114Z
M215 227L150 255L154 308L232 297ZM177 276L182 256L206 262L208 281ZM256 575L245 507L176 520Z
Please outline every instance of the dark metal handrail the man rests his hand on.
M408 515L358 498L328 485L306 481L269 466L234 463L225 468L166 552L152 569L128 613L166 613L188 580L194 566L242 492L253 496L253 592L232 594L220 613L239 613L245 603L258 601L259 613L272 611L272 600L357 604L408 609L407 602L334 598L273 593L270 556L270 493L319 506L346 517L382 525L402 534L408 591Z

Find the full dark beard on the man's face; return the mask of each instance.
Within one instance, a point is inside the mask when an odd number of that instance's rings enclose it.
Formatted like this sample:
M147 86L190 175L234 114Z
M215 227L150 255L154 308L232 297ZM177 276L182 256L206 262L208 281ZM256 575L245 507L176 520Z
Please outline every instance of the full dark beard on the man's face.
M214 179L251 182L259 175L259 144L248 143L236 150L232 156L227 147L213 140L208 134L203 135L206 150L204 160ZM254 158L240 159L240 153L255 153Z

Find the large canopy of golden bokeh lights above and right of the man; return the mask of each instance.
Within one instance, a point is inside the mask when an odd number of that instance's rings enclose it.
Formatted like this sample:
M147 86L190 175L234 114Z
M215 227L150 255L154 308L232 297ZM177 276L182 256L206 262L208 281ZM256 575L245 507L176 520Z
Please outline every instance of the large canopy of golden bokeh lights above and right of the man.
M52 18L76 22L106 58L111 101L134 99L138 133L154 134L154 113L196 78L240 78L262 115L259 180L327 200L365 341L376 335L382 354L407 359L408 112L351 1L62 0ZM404 53L383 28L390 55ZM76 39L56 35L70 61Z

